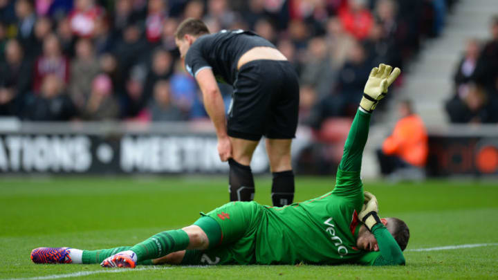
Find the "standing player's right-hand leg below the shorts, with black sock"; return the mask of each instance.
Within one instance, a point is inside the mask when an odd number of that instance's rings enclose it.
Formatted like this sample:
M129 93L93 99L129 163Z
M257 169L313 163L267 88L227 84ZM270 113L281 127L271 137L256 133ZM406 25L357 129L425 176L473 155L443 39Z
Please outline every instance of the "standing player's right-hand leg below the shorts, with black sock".
M293 203L294 172L291 165L292 139L266 139L266 152L270 160L273 206L282 207Z

